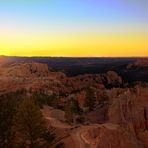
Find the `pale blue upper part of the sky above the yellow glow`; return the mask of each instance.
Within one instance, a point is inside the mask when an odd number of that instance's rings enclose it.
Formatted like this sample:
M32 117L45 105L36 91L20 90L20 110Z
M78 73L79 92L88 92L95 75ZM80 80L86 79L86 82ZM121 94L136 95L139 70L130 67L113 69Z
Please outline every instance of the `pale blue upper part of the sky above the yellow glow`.
M29 31L147 31L147 7L147 0L5 0L0 19Z

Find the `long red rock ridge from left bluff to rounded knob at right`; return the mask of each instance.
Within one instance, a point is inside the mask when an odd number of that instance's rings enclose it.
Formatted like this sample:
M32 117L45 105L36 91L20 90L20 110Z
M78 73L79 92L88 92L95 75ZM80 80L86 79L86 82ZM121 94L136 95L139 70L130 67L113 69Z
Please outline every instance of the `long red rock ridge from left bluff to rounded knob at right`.
M121 84L122 80L115 72L67 77L62 72L52 71L46 64L20 62L0 66L0 83L1 93L24 88L52 94L71 93L91 86L100 88L104 84Z

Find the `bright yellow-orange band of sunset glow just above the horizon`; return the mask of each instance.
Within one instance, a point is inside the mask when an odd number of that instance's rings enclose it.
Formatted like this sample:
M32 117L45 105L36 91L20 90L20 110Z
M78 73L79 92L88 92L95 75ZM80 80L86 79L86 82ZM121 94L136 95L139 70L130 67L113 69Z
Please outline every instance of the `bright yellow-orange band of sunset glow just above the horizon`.
M19 33L0 35L0 55L148 56L148 32Z

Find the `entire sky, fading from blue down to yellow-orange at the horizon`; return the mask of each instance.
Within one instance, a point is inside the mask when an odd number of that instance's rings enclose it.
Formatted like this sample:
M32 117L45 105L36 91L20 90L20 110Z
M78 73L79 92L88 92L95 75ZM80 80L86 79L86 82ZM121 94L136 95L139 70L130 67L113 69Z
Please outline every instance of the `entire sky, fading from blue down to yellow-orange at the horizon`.
M1 0L0 55L148 56L148 0Z

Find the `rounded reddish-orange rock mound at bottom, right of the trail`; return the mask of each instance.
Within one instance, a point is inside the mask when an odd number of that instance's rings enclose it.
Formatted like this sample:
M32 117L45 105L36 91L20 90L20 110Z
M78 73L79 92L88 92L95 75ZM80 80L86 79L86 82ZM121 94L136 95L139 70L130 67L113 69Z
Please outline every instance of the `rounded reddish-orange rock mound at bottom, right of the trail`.
M81 133L90 148L142 148L142 144L128 131L114 124L92 127Z

